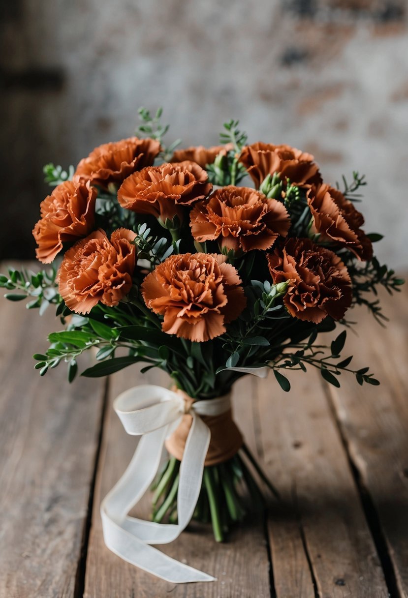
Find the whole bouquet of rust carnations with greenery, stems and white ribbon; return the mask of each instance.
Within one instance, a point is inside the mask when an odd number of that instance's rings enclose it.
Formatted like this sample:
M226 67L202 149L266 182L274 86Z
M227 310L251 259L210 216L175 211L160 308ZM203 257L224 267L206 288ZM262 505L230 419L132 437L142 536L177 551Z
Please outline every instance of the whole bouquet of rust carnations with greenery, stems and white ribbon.
M105 541L166 579L208 581L173 561L169 573L171 559L150 544L171 541L191 517L211 520L223 541L245 515L243 486L255 509L259 478L277 494L233 421L233 384L272 370L288 391L288 371L315 367L337 387L344 373L377 385L369 368L341 355L349 309L364 305L382 323L377 287L392 293L403 280L374 257L380 234L362 228L355 204L364 176L331 186L312 155L248 144L238 121L224 125L216 147L166 147L162 110L139 115L137 137L101 145L68 172L44 167L54 189L33 234L51 269L10 269L0 285L11 301L31 297L28 309L56 310L63 330L34 355L41 376L65 362L72 382L89 349L95 364L82 376L140 362L142 372L169 374L172 389L141 386L115 404L145 442L102 505ZM338 325L325 344L319 333ZM152 527L127 511L153 481L163 443Z

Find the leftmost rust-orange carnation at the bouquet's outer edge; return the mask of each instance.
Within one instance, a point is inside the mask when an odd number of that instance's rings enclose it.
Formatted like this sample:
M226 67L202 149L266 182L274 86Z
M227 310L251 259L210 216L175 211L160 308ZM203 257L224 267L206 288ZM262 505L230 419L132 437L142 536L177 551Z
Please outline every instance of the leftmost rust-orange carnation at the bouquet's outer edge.
M96 195L89 183L65 181L45 197L40 204L41 219L32 231L39 261L49 264L61 251L62 243L76 241L92 231Z

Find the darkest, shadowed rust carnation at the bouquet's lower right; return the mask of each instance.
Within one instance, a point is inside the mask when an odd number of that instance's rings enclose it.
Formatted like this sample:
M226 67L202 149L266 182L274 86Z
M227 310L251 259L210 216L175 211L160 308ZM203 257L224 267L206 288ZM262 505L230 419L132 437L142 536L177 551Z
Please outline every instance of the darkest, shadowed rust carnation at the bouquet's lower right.
M319 324L343 318L351 306L351 278L340 258L309 239L289 239L267 256L275 284L290 281L284 304L291 316Z

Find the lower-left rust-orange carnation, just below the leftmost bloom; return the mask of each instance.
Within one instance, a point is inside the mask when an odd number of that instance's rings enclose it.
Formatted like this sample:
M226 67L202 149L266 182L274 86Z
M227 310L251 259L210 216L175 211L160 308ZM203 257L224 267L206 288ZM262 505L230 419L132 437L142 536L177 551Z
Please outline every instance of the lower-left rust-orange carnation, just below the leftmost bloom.
M99 229L66 252L59 270L59 292L76 313L89 313L96 304L113 307L132 287L136 264L136 234L118 228L109 241Z

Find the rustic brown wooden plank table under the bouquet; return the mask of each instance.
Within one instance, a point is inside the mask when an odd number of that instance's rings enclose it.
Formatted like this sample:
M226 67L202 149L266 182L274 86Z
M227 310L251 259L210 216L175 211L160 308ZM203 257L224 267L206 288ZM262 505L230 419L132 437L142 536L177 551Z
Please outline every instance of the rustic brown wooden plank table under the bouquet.
M388 329L361 312L360 337L349 334L348 351L381 386L344 377L336 390L312 371L291 374L290 393L272 378L236 385L236 419L282 501L226 544L192 524L163 547L218 578L188 585L103 544L101 497L135 449L112 399L142 382L137 368L69 385L60 366L40 379L31 356L59 322L0 301L0 597L406 597L407 297L384 297ZM157 371L143 380L167 383ZM138 512L148 516L148 499Z

